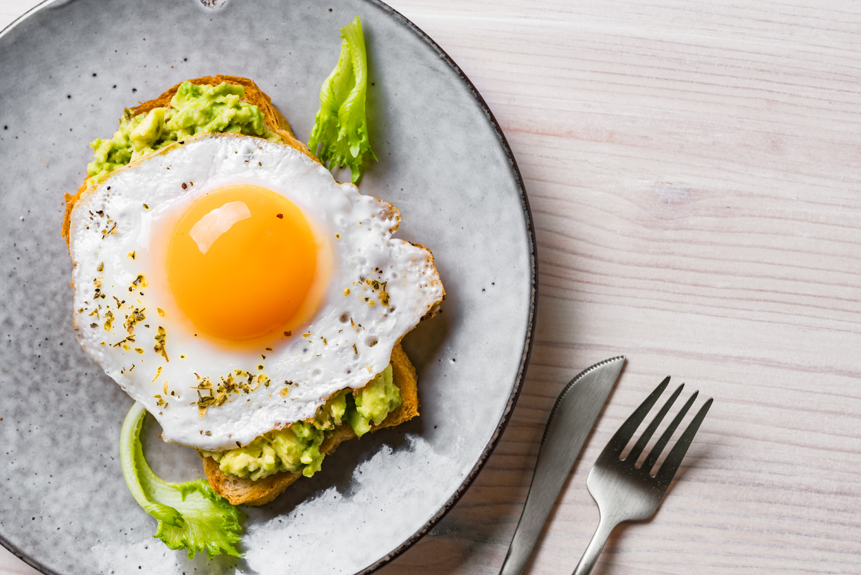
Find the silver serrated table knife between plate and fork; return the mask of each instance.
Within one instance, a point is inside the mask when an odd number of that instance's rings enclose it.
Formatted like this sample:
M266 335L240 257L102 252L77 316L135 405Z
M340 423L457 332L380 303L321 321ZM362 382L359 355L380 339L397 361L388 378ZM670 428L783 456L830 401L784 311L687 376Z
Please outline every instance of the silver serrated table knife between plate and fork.
M520 575L523 572L532 554L532 547L535 547L538 535L547 522L550 509L553 509L562 485L624 364L623 355L604 359L580 372L556 399L547 420L547 428L544 428L536 471L532 476L523 514L520 522L517 522L499 575Z

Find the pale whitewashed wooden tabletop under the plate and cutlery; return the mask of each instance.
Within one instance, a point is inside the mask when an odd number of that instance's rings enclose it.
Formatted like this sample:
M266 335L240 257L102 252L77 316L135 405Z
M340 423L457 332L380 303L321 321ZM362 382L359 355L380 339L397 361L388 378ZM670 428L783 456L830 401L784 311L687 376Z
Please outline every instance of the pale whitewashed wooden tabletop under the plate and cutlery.
M499 447L381 573L498 572L556 394L616 353L527 572L573 570L598 522L592 461L672 374L715 404L657 515L617 529L595 572L861 573L861 3L391 4L504 128L541 296ZM0 549L10 573L34 571Z

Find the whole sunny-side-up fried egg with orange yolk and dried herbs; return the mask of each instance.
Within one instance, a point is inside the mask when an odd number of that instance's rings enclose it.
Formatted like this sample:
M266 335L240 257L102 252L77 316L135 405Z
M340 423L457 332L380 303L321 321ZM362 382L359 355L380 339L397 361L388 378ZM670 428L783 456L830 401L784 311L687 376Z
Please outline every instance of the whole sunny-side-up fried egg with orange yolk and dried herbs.
M292 147L177 143L74 204L78 341L165 441L245 445L367 384L443 299L399 222Z

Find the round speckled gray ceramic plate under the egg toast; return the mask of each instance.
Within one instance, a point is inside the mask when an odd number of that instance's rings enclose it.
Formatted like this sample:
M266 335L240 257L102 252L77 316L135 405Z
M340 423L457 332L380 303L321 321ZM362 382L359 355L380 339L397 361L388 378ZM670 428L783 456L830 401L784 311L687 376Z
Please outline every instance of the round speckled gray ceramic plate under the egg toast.
M205 0L204 3L213 3ZM479 94L426 35L361 0L58 0L0 34L0 542L46 573L367 572L425 534L480 471L530 351L535 241L511 150ZM443 313L405 340L422 415L345 443L274 504L243 508L245 559L187 559L152 539L118 453L131 400L71 333L63 194L125 106L185 79L253 78L307 137L359 15L379 163L362 191L404 216L437 258ZM145 428L169 480L192 450Z

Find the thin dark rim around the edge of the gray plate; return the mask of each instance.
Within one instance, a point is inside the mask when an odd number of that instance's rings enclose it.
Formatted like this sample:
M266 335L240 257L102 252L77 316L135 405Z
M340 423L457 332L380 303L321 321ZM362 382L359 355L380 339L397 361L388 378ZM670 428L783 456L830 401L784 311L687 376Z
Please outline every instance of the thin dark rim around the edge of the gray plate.
M21 16L15 18L14 21L10 22L8 26L0 30L0 38L3 38L12 28L15 28L20 22L24 19L28 18L30 15L34 14L34 12L46 8L49 4L53 3L65 3L68 0L42 0L42 2L36 4L31 9L28 9ZM461 70L460 66L457 66L455 60L449 56L448 53L440 47L436 41L434 41L430 35L424 32L421 28L413 23L409 18L402 15L398 10L393 9L387 3L382 2L382 0L362 0L363 3L367 3L375 9L381 10L387 16L392 17L396 22L400 23L402 26L407 28L409 31L415 35L418 40L423 41L425 45L431 48L432 51L437 53L440 59L445 62L449 68L455 72L455 76L463 83L466 84L470 95L473 97L474 101L479 104L479 107L484 115L487 118L487 121L490 123L490 126L493 130L493 133L496 135L499 144L501 144L503 151L505 152L505 159L507 159L509 165L511 166L511 172L514 175L515 183L517 184L518 191L520 193L520 201L521 201L521 209L523 210L523 216L526 223L526 236L527 241L529 243L529 252L530 252L530 302L529 302L529 311L527 314L527 326L526 326L526 336L523 341L523 352L520 356L520 363L517 367L517 375L515 376L514 385L511 388L511 393L509 394L508 400L505 403L505 409L503 411L502 417L499 418L499 423L496 428L494 428L493 433L490 436L490 439L485 444L485 447L481 450L480 456L478 460L476 460L472 469L467 473L466 477L463 478L461 484L457 486L455 492L452 493L451 497L443 503L443 506L437 510L430 519L424 522L422 527L418 528L417 531L413 532L406 540L402 541L397 547L395 547L392 551L388 552L386 555L383 555L380 559L377 559L369 566L362 568L362 570L356 572L356 575L368 575L369 573L375 572L383 566L391 563L394 559L400 557L403 553L405 553L410 547L418 543L424 535L428 534L432 528L437 526L437 523L443 520L443 517L448 515L449 511L455 507L457 502L461 500L469 487L474 483L475 479L478 478L479 473L487 463L487 460L490 459L490 456L493 453L493 450L499 445L499 440L502 438L503 432L505 432L505 428L508 427L508 423L511 421L511 414L514 412L514 408L517 405L517 399L520 397L520 391L523 389L523 381L526 378L526 370L529 366L530 356L532 353L532 344L535 341L535 330L536 330L536 309L538 303L538 253L537 253L537 244L536 244L536 233L535 233L535 224L532 219L532 209L530 209L530 201L529 197L526 193L526 186L523 184L523 175L520 173L520 168L517 166L517 159L514 158L514 153L511 151L511 146L508 143L508 140L505 138L505 133L502 130L502 127L497 122L496 117L493 116L493 112L490 107L485 102L484 97L481 96L478 89L476 89L475 84L473 84L472 80L468 78L465 72ZM10 541L7 541L3 534L0 534L0 545L3 545L6 549L9 550L10 553L14 554L15 557L21 559L28 566L33 567L35 570L45 573L45 575L63 575L62 573L55 572L52 569L40 565L35 559L32 559L28 554L23 553L22 550L18 549L15 545L13 545Z

